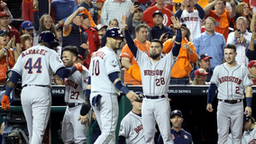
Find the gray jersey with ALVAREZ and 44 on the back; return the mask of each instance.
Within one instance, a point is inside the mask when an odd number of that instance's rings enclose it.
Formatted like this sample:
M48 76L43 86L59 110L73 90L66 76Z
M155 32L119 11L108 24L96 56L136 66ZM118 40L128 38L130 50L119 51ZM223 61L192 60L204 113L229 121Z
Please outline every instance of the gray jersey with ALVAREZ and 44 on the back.
M50 86L52 72L56 73L59 67L65 66L58 54L38 45L23 51L13 70L23 77L23 85Z

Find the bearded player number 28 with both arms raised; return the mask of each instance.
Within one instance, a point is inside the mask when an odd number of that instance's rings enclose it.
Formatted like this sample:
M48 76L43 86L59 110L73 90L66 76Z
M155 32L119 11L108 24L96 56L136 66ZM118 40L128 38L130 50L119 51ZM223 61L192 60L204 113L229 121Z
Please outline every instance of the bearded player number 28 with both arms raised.
M144 99L142 103L142 125L145 143L154 143L155 122L160 128L160 133L165 144L173 143L169 125L169 78L171 69L176 61L174 57L178 56L181 44L181 31L178 19L172 16L171 21L174 28L177 29L175 45L173 49L164 58L161 58L162 42L160 40L151 41L151 58L138 49L129 31L127 31L127 17L122 17L123 29L129 49L133 52L135 60L141 68L142 89Z

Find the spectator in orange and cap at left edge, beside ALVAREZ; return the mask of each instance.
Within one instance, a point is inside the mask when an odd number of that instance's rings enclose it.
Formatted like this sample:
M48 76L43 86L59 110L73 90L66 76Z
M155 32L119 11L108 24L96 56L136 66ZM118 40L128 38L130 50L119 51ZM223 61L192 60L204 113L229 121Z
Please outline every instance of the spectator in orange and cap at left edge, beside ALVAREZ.
M13 39L9 39L7 30L0 30L0 83L5 83L5 73L9 68L14 67L15 60L19 57L17 49L14 47Z

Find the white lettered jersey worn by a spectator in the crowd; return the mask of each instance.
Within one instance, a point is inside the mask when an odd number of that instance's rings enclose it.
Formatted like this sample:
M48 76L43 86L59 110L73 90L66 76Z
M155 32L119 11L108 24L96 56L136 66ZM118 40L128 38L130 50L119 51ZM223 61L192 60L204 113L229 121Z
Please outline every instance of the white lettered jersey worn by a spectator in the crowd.
M185 9L180 16L179 21L187 25L187 28L191 33L189 37L190 41L194 40L197 35L201 34L201 23L203 20L200 19L197 10L194 10L192 13L188 13Z

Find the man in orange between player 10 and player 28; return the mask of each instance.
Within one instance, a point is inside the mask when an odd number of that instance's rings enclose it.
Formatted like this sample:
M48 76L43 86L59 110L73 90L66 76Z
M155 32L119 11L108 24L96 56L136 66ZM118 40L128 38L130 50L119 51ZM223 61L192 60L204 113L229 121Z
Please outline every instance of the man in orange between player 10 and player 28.
M128 29L129 31L129 29ZM150 57L151 42L148 41L148 25L140 23L135 28L136 39L134 39L135 45L138 49L144 51ZM125 85L142 85L141 70L138 63L135 61L132 51L128 48L128 45L122 49L120 55L121 64L125 68L124 71L124 84Z

